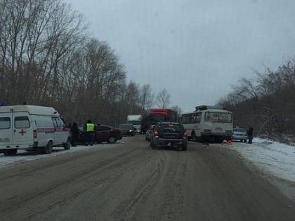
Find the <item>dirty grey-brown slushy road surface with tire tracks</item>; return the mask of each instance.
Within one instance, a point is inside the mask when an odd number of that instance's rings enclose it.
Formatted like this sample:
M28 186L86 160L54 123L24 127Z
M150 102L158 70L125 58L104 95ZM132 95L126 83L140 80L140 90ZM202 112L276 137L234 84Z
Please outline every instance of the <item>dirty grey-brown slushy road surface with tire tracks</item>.
M230 149L123 140L0 168L1 220L295 220L294 202Z

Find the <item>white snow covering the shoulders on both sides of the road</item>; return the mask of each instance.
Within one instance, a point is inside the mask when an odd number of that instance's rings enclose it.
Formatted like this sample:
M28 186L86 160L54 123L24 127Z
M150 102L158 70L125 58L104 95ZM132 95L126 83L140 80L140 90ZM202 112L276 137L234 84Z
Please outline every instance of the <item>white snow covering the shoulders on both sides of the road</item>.
M51 154L33 154L30 152L19 151L17 156L4 156L0 154L0 168L11 166L22 161L32 161L44 157L53 157L58 154L68 154L77 151L85 151L91 148L110 148L112 145L120 145L131 138L125 138L115 144L93 145L93 147L78 146L70 150L55 148ZM255 166L263 170L263 173L273 175L276 178L295 182L295 147L280 144L269 140L254 138L252 144L244 142L232 142L232 145L221 145L224 148L235 149L245 159L254 163ZM188 151L189 151L188 146Z

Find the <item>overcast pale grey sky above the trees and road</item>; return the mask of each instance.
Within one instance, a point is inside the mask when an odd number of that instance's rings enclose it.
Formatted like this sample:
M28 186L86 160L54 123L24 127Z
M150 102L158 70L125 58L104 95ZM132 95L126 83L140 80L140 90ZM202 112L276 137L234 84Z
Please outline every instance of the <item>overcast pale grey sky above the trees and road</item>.
M128 81L165 88L184 112L295 57L294 0L67 0Z

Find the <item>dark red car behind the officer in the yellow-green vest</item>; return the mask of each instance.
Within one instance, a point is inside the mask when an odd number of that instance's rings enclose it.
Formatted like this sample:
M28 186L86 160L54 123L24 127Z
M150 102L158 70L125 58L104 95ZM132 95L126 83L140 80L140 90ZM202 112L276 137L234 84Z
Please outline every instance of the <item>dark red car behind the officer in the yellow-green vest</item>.
M79 128L79 136L78 136L78 144L84 145L86 142L86 134L83 127ZM107 126L103 124L96 125L96 132L94 136L94 142L101 143L101 142L108 142L114 143L117 140L122 139L121 130L118 128L113 128L112 126Z

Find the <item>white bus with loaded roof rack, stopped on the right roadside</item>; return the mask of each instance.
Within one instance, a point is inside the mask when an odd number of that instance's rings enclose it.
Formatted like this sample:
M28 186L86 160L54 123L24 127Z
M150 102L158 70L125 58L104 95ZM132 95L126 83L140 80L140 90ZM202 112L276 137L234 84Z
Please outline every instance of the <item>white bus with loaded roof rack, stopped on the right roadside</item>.
M188 138L200 142L223 142L232 136L232 112L221 107L197 106L195 111L181 115Z

